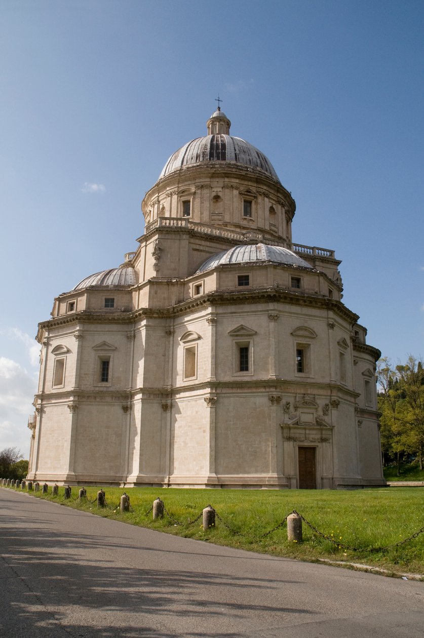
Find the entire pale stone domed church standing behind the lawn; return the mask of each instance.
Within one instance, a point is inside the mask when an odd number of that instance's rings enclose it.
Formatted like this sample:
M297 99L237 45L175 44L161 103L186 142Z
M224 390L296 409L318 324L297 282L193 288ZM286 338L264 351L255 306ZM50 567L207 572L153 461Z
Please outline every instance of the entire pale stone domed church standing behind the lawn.
M296 204L230 135L174 152L119 267L40 323L28 477L58 484L382 486L375 362L333 250L292 241ZM99 264L100 267L110 264Z

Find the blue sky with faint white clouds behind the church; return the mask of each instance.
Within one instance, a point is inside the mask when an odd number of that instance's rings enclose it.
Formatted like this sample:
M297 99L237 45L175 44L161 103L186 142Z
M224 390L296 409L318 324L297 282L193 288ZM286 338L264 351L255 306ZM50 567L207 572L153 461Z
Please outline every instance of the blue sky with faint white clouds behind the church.
M343 260L368 343L424 355L423 23L421 0L3 0L0 450L29 449L37 323L136 248L218 92L292 192L294 241Z

